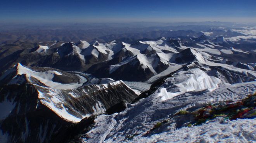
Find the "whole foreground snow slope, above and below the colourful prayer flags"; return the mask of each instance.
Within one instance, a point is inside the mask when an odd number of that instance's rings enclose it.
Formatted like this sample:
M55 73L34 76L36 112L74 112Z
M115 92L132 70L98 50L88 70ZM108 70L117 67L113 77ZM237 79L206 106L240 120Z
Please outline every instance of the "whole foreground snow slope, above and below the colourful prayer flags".
M220 87L214 91L184 93L165 101L157 96L162 88L159 87L154 94L142 99L139 103L128 104L130 108L123 112L98 116L93 129L86 133L88 138L81 138L81 140L109 143L121 141L250 141L255 139L255 119L238 119L227 123L221 123L216 119L212 123L187 128L183 127L182 122L175 119L173 114L188 108L201 108L208 102L237 101L245 98L247 94L254 93L255 86L256 82L239 83ZM156 123L166 119L169 119L170 123L161 126L159 132L145 136ZM187 120L189 121L189 119ZM177 126L180 127L176 128ZM131 135L133 136L132 140L128 140L127 136Z

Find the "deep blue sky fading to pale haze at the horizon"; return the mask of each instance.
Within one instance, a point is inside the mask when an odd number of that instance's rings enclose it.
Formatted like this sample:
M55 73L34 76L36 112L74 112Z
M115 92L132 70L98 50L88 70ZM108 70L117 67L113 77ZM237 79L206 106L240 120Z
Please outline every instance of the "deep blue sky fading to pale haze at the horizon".
M256 23L256 0L0 0L2 23Z

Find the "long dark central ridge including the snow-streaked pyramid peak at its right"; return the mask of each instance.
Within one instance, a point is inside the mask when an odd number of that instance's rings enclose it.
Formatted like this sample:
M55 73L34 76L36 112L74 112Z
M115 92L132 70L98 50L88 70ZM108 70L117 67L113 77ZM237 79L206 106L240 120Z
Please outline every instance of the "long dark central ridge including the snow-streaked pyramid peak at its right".
M96 64L88 71L98 77L111 77L125 81L131 81L131 79L133 81L147 81L150 77L164 71L169 66L168 62L161 61L161 57L156 53L146 56L139 54L127 57L123 62L124 64L117 64L114 60L116 59L104 64Z

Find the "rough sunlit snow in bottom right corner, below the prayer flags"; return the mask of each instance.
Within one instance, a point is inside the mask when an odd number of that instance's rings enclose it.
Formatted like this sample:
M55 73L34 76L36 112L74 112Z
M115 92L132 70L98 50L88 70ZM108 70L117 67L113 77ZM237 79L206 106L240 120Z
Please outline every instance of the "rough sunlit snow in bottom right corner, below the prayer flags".
M209 123L192 128L183 127L150 137L138 138L138 142L254 142L256 119L224 120L216 118Z

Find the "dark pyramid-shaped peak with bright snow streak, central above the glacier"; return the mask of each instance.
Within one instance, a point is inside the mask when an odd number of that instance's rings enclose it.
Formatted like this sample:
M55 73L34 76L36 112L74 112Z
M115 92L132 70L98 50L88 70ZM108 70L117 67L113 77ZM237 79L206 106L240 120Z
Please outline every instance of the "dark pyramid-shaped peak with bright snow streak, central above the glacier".
M167 69L168 66L168 62L159 57L157 53L149 55L139 53L136 56L127 57L118 64L110 65L108 70L109 76L114 79L147 81L150 77Z

